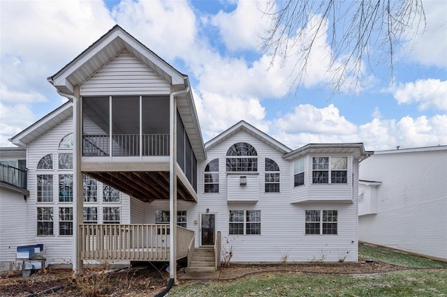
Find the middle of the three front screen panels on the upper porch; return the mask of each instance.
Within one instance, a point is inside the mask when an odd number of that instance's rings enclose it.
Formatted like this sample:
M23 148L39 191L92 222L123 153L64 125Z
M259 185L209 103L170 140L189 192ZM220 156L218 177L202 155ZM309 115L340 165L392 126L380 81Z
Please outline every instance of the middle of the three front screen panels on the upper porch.
M140 97L112 97L112 155L140 155Z

